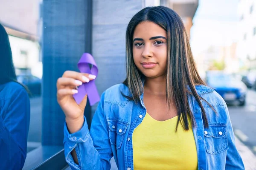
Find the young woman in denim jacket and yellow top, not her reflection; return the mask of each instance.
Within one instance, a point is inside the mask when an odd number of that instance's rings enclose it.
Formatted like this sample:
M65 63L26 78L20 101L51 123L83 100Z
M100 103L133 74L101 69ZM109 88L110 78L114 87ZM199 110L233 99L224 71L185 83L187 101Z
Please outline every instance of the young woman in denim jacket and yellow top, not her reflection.
M93 75L65 71L58 103L66 115L64 147L73 170L243 170L227 105L204 85L183 22L172 9L147 7L126 32L127 78L107 89L84 119L77 85Z

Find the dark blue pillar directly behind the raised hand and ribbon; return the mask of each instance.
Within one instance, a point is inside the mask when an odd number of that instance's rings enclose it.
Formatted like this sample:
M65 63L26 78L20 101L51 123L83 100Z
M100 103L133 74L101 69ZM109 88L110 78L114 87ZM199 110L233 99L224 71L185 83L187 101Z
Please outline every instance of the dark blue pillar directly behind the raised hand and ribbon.
M91 53L91 10L92 0L43 1L43 145L63 145L65 116L57 103L56 81L66 70L79 71L79 58ZM85 113L90 121L89 105Z

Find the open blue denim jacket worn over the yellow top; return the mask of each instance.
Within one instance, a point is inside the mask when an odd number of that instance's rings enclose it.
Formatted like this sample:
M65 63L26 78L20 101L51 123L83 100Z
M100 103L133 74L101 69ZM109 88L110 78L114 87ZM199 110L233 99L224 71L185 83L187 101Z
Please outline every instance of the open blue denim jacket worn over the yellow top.
M201 100L207 113L209 128L204 126L202 111L192 95L187 95L189 107L196 120L193 128L198 155L198 170L244 170L244 164L235 145L227 105L213 89L197 85L196 91L217 111ZM119 170L134 170L132 134L146 114L143 94L136 104L122 96L129 94L123 84L108 88L101 96L93 116L90 132L86 120L73 134L64 124L64 150L72 170L110 170L114 157ZM75 149L79 164L71 156Z

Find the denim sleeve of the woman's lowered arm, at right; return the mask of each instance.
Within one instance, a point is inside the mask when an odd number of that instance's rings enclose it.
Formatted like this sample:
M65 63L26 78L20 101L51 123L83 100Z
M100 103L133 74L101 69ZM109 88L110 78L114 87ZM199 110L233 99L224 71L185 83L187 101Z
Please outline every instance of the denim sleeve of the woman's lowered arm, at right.
M232 124L230 121L229 111L226 104L225 104L225 110L227 113L227 144L228 144L225 170L244 170L244 163L236 148L235 136L234 136Z

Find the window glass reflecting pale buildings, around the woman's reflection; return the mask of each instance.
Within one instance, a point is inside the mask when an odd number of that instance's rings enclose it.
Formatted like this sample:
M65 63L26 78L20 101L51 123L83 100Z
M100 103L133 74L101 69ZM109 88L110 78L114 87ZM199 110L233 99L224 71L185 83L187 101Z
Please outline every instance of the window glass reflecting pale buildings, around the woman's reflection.
M41 145L39 8L40 0L15 1L15 5L9 1L0 3L0 11L6 14L1 13L0 21L8 30L17 81L25 85L31 94L27 153Z

